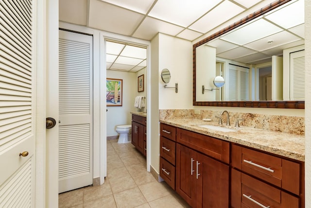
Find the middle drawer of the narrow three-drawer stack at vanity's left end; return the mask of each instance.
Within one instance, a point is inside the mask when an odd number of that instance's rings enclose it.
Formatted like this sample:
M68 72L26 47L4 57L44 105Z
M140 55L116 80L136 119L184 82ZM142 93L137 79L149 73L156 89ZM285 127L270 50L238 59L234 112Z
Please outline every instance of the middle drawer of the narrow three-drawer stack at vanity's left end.
M160 142L160 156L175 165L176 142L164 137L161 137Z

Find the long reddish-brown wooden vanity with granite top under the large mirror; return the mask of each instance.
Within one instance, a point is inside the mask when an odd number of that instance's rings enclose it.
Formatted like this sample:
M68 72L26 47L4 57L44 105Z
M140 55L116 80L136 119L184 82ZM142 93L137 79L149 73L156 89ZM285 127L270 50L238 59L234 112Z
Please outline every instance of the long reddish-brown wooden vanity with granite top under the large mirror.
M304 208L303 136L160 122L160 176L191 207Z

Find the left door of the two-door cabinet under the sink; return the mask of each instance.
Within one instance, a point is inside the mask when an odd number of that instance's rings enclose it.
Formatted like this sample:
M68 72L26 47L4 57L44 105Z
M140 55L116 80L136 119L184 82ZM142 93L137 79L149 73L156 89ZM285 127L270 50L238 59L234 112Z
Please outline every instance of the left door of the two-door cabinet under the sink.
M176 192L191 206L196 206L196 152L176 144Z

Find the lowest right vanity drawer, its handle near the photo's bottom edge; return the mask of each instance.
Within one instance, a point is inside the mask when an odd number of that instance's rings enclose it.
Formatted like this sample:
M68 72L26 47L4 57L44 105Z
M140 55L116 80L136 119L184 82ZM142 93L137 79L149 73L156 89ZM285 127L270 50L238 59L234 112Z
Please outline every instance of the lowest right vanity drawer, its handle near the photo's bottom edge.
M299 198L294 195L237 170L232 170L231 177L231 206L234 208L299 208Z

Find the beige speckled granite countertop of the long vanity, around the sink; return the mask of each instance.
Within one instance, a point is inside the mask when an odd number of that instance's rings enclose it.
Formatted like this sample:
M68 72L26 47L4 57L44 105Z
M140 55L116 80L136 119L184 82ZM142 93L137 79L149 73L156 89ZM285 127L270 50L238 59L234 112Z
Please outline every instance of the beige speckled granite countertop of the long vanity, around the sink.
M197 126L205 124L220 126L217 122L203 121L199 119L170 119L160 120L160 122L218 139L241 144L247 147L252 147L279 156L305 161L305 136L246 126L234 127L234 124L232 123L231 126L226 126L225 124L222 124L221 126L235 129L237 131L223 132Z

